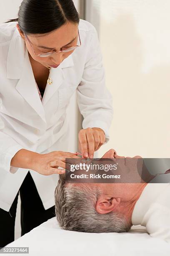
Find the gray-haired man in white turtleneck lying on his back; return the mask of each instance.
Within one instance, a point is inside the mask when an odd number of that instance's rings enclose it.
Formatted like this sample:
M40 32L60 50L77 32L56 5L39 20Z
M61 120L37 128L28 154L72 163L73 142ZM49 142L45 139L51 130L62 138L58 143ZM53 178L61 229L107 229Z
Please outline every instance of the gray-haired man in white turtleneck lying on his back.
M118 157L114 149L102 156ZM158 176L170 182L170 173L156 175L156 182ZM65 230L120 233L140 224L150 236L170 242L170 183L65 184L60 174L55 213Z

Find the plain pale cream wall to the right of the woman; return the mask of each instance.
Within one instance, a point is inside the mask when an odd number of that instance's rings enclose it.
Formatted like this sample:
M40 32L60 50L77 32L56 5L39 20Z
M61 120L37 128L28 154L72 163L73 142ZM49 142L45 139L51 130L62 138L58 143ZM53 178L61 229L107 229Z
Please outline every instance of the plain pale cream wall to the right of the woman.
M120 156L170 157L170 1L87 2L114 107L110 142L98 155L115 148Z

